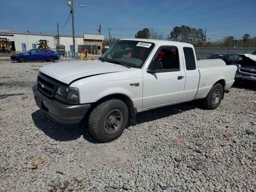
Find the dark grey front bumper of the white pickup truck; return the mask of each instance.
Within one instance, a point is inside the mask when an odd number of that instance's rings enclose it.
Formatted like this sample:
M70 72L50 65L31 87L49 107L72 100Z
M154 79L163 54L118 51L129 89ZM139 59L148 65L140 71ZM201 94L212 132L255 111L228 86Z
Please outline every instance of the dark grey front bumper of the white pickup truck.
M50 100L39 90L37 84L32 87L37 106L52 120L59 124L77 124L90 108L90 104L69 105L57 100Z

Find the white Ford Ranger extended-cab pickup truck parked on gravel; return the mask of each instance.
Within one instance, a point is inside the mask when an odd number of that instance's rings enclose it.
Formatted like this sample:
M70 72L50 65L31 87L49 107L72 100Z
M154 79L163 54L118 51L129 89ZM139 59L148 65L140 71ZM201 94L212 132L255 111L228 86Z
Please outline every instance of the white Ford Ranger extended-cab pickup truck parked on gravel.
M60 124L88 119L97 140L118 138L136 113L195 99L215 109L236 77L222 60L196 61L191 44L121 39L99 60L40 68L32 87L36 104ZM88 118L86 118L88 117Z

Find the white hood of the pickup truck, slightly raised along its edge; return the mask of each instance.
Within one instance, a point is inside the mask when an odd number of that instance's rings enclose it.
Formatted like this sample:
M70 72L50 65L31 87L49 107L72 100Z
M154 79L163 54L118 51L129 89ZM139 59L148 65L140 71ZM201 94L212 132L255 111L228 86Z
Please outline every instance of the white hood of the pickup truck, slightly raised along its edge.
M70 84L86 76L127 71L127 69L121 65L92 60L54 63L40 68L39 71L60 82Z

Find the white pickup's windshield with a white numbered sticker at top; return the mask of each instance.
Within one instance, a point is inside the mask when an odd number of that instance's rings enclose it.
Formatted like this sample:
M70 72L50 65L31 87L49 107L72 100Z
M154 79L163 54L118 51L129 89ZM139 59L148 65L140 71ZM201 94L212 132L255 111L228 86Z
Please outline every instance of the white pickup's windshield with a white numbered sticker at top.
M122 62L129 67L141 68L154 45L150 42L119 40L101 58L107 62Z

